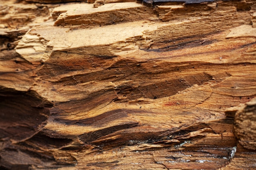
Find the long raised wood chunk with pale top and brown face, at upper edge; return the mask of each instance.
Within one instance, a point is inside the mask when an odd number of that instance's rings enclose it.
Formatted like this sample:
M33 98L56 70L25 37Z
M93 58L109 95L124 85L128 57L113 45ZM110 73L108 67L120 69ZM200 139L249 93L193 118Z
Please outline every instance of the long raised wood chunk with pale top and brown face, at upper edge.
M157 20L157 16L153 14L153 9L136 2L111 3L98 8L93 8L92 4L87 3L79 4L77 7L73 6L67 6L70 10L61 13L54 25L89 27L139 20ZM60 13L58 12L59 9L55 10L55 13Z

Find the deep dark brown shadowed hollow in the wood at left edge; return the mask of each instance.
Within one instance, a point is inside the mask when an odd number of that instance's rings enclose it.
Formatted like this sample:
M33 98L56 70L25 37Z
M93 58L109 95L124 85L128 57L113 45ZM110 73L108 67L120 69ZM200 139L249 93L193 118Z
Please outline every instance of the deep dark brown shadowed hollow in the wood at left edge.
M0 88L1 138L21 141L31 137L45 126L51 107L34 91Z

